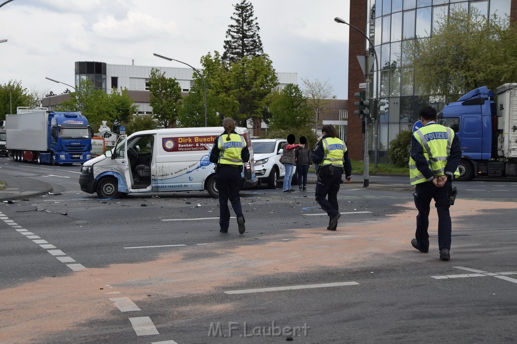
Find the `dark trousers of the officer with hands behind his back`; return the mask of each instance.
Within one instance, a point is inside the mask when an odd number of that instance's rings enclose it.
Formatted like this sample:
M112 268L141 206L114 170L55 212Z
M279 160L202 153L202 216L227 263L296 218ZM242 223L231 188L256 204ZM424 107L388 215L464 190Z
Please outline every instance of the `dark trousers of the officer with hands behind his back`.
M431 199L434 199L438 213L438 248L450 249L452 223L447 204L447 193L452 189L452 182L447 181L441 188L432 182L420 183L415 186L415 206L418 209L417 230L415 237L421 250L429 250L429 212Z

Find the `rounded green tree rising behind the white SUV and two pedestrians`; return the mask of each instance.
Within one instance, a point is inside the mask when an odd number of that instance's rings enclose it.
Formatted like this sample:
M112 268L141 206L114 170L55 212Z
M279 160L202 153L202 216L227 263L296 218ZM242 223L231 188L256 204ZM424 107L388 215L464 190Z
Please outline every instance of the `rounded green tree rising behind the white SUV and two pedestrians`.
M271 129L311 128L314 112L298 85L287 84L271 93L269 105Z

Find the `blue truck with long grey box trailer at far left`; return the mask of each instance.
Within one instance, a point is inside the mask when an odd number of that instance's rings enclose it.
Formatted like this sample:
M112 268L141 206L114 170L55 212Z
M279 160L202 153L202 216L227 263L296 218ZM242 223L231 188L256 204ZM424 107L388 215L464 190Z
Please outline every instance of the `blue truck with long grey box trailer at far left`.
M70 165L92 157L92 130L80 112L20 107L6 116L6 123L7 149L14 161Z

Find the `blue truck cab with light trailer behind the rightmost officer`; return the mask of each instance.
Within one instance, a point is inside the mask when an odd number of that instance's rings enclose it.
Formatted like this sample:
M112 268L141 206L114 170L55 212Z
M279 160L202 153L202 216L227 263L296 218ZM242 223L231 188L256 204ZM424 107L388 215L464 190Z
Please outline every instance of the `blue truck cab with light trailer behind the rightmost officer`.
M517 176L517 83L498 87L496 94L497 100L493 90L477 88L438 114L439 123L460 138L459 181Z

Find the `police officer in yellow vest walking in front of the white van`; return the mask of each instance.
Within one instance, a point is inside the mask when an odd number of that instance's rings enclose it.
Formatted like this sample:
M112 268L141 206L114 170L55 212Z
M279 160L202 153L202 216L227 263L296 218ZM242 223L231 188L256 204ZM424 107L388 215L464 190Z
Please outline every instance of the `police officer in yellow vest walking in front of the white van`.
M239 191L242 185L242 162L250 160L246 139L235 132L235 122L231 118L223 121L224 133L214 141L210 152L210 162L216 163L216 186L219 191L219 226L221 233L227 233L230 227L230 208L232 203L237 216L239 234L244 234L244 215L240 205Z

